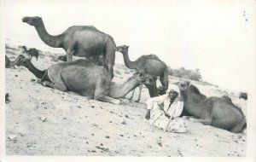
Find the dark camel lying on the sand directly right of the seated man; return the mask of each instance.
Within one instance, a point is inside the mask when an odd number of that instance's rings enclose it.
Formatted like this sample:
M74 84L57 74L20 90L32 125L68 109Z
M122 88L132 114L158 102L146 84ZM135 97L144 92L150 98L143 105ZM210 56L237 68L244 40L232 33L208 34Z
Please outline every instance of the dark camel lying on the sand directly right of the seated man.
M244 113L228 96L207 97L202 95L200 90L189 81L180 81L175 84L178 85L184 100L182 115L194 116L195 122L234 133L241 132L246 128Z

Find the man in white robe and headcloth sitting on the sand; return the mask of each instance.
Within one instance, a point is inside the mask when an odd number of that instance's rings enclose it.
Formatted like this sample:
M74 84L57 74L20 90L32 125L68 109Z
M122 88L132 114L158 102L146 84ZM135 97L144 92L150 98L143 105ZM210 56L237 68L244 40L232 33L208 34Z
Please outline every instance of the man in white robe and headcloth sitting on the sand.
M179 118L183 111L183 100L179 93L177 85L171 84L165 95L148 99L145 118L149 119L150 124L161 130L187 132L183 119Z

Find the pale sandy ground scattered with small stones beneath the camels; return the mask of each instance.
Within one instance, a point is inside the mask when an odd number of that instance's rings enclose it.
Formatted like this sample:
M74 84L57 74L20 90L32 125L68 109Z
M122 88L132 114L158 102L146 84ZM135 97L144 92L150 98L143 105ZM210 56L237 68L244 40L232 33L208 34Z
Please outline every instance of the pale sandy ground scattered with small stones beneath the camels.
M20 54L17 47L6 49L11 60ZM40 52L32 63L43 70L56 63L56 56ZM131 70L115 65L113 81L121 84L129 76ZM189 120L186 134L150 126L144 119L144 101L149 97L145 88L141 102L124 98L113 105L37 84L26 67L6 68L5 77L10 100L5 107L7 155L244 157L247 153L247 130L234 134ZM175 81L170 77L170 83ZM239 100L238 92L192 83L207 96L229 95L247 114L247 101Z

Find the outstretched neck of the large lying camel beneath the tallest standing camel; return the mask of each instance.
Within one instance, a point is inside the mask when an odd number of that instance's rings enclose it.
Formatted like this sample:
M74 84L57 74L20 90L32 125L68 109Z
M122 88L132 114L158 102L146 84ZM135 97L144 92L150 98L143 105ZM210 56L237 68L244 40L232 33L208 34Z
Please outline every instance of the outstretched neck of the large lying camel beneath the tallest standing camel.
M127 95L131 90L134 90L140 82L137 79L137 76L132 76L129 78L125 84L112 84L109 92L109 96L113 98L121 98Z

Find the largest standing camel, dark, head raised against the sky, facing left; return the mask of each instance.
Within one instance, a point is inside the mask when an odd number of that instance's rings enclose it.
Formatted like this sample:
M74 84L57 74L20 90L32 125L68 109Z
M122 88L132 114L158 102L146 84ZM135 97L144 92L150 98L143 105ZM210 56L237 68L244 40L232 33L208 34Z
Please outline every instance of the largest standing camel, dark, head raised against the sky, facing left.
M44 43L54 48L65 49L67 61L73 61L73 55L98 59L103 55L104 67L113 78L113 64L116 45L113 38L94 26L71 26L60 35L51 36L44 27L41 17L23 17L23 22L35 26Z

